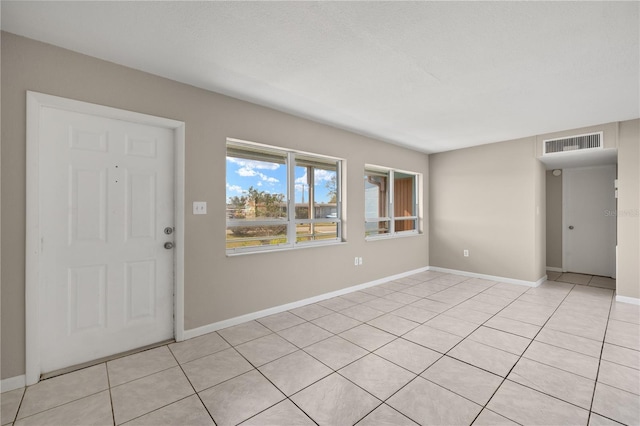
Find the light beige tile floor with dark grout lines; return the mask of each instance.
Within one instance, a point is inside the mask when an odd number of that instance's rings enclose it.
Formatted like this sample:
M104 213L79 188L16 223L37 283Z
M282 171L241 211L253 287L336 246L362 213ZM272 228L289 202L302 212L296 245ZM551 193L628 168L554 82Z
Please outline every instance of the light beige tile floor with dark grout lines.
M419 273L3 393L2 425L640 424L640 306L552 278Z

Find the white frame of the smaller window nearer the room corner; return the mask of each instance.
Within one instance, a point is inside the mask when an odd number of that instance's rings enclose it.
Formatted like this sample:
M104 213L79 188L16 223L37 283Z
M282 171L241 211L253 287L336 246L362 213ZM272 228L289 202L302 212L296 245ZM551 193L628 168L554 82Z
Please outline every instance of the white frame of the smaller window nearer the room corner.
M365 240L383 240L388 238L397 238L403 236L410 235L419 235L421 233L420 225L421 225L421 196L420 196L420 182L421 174L416 172L411 172L407 170L399 170L392 169L389 167L383 166L375 166L366 164L364 167L363 176L370 174L384 174L387 176L387 188L386 188L386 196L387 196L387 215L384 217L370 217L367 218L365 214ZM404 174L413 176L413 213L412 216L395 216L394 202L395 202L395 175ZM366 197L366 195L365 195ZM397 220L413 220L414 221L414 229L407 231L396 231L395 224ZM388 232L382 234L373 234L367 235L366 224L367 223L380 223L380 222L388 222Z

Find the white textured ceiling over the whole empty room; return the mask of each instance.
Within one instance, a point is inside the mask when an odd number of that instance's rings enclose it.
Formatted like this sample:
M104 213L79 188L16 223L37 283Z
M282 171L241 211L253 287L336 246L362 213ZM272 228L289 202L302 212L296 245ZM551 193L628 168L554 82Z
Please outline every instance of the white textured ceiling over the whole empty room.
M425 152L640 117L638 2L2 1L2 29Z

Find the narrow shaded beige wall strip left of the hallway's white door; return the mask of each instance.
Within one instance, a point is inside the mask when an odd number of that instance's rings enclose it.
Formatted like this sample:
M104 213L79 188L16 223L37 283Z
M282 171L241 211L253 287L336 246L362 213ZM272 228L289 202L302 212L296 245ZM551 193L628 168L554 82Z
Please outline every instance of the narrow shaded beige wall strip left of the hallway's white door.
M547 266L562 268L562 175L546 173L547 186Z

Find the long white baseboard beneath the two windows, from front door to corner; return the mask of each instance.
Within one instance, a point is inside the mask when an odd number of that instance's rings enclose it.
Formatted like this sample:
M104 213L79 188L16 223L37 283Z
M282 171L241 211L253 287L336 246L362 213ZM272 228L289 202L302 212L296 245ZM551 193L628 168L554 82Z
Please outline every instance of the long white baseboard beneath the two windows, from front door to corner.
M341 290L332 291L329 293L324 293L318 296L309 297L307 299L298 300L296 302L287 303L280 306L275 306L273 308L263 309L257 312L251 312L249 314L240 315L238 317L229 318L227 320L214 322L211 324L203 325L202 327L192 328L191 330L185 330L184 338L191 339L193 337L202 336L203 334L211 333L214 331L222 330L223 328L232 327L234 325L242 324L247 321L252 321L258 318L266 317L273 314L279 314L281 312L288 311L290 309L299 308L301 306L309 305L311 303L320 302L322 300L331 299L332 297L342 296L344 294L353 293L354 291L362 290L365 288L373 287L379 284L384 284L389 281L397 280L400 278L408 277L413 274L417 274L420 272L428 271L429 267L425 266L423 268L414 269L409 272L403 272L401 274L392 275L385 278L380 278L374 281L369 281L364 284L354 285L352 287L343 288Z

